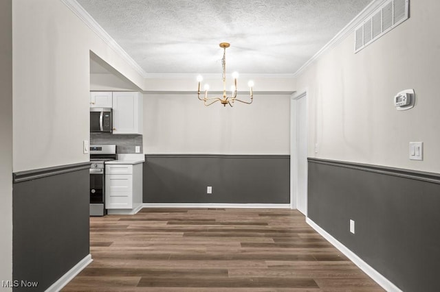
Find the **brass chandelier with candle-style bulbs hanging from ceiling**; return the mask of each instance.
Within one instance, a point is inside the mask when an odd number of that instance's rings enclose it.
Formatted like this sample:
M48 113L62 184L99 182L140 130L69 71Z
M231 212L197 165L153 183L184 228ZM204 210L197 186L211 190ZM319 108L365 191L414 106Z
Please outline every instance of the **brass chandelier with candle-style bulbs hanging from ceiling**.
M254 82L248 82L248 86L250 87L250 101L243 101L236 98L236 79L239 77L238 73L232 73L232 78L234 79L234 85L231 87L231 95L226 93L226 48L230 47L228 42L221 42L220 47L223 49L223 58L221 59L221 67L223 69L223 96L222 97L208 97L209 85L205 84L203 86L203 90L205 91L205 96L203 98L200 97L200 84L203 80L203 77L199 75L197 77L197 81L199 82L199 86L197 89L197 97L203 101L205 106L210 106L211 104L215 104L217 101L220 101L223 106L229 104L231 107L234 106L235 101L240 101L243 104L252 104L252 100L254 99L254 93L252 92L252 87L254 87Z

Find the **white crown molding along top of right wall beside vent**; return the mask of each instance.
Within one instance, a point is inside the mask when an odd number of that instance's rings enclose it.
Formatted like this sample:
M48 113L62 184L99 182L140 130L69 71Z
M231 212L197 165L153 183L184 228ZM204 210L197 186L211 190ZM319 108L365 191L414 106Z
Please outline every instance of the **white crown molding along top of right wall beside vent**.
M367 16L369 16L370 14L375 12L386 1L388 1L388 0L373 0L369 5L366 6L366 8L364 8L364 10L362 10L357 16L355 16L355 18L352 21L350 21L349 24L345 25L345 27L343 29L341 29L340 32L338 32L338 34L336 34L336 36L334 36L329 42L327 42L327 44L324 47L322 47L318 51L318 53L316 53L307 62L305 62L305 64L303 64L303 66L301 66L300 69L298 69L293 74L294 77L298 77L298 75L303 73L305 71L305 69L307 69L307 67L311 63L318 60L318 58L320 58L320 56L322 56L324 53L326 53L330 49L333 49L333 47L336 47L336 45L338 45L340 42L342 42L342 40L347 38L347 36L349 36L349 34L354 32L356 27L358 27L361 23L364 22L364 20L366 19Z

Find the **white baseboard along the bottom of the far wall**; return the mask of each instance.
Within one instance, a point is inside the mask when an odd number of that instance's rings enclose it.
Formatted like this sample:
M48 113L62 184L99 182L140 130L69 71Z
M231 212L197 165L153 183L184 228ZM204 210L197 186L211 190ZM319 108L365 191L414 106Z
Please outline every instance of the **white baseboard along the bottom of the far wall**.
M290 209L290 204L144 203L143 208L255 208Z

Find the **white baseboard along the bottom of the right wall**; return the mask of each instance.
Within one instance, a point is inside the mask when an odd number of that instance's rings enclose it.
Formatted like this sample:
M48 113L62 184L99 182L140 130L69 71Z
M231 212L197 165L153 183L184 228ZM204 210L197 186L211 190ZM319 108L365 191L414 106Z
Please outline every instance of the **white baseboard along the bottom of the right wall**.
M355 265L360 267L364 273L366 273L370 278L372 278L377 284L380 284L382 288L384 288L388 292L402 292L399 288L395 286L390 280L382 276L378 271L373 269L369 264L365 263L362 258L357 256L354 252L351 252L345 245L340 243L337 239L335 239L333 236L331 236L328 232L320 228L314 221L309 219L305 220L311 228L314 228L316 232L321 234L329 243L331 243L334 247L336 247L342 254L347 256Z

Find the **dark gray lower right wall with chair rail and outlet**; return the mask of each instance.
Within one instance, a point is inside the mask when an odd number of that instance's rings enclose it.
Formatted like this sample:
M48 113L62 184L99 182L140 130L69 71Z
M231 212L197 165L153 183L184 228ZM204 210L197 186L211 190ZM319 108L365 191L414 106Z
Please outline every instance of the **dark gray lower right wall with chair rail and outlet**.
M399 289L438 291L439 174L309 158L308 196L309 219Z

